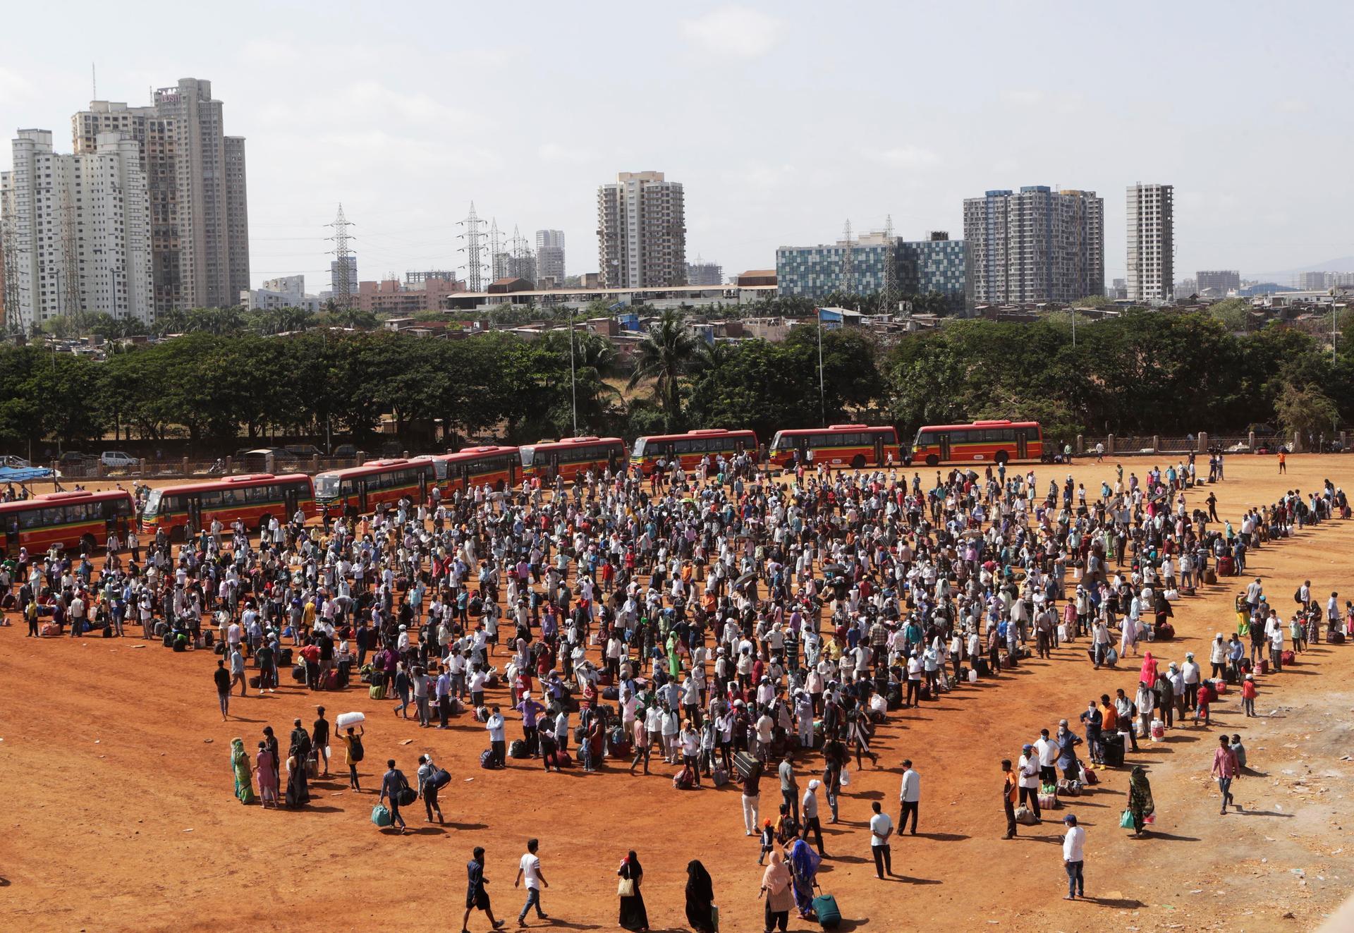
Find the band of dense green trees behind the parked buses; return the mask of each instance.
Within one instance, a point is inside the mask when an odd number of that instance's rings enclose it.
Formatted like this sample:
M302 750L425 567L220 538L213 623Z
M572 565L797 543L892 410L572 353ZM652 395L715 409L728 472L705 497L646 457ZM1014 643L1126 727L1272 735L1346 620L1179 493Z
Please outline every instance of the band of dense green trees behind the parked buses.
M575 329L459 340L383 330L282 337L215 328L104 360L0 347L0 443L187 437L210 455L269 435L356 443L391 417L410 448L574 433L834 421L1033 418L1045 433L1243 432L1259 421L1330 432L1354 414L1354 352L1297 329L1236 333L1205 313L1129 311L1032 324L951 321L890 345L854 329L793 328L781 343L705 344L665 313L630 359Z

